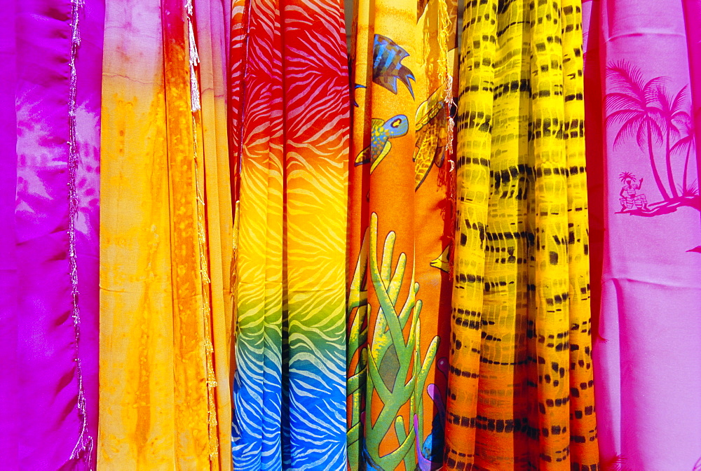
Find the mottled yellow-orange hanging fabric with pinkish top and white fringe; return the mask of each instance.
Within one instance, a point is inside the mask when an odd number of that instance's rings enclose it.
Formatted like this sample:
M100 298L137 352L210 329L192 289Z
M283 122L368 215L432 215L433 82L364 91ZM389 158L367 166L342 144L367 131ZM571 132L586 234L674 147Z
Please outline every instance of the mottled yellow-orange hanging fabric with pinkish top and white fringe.
M228 18L219 1L107 2L101 470L231 469Z

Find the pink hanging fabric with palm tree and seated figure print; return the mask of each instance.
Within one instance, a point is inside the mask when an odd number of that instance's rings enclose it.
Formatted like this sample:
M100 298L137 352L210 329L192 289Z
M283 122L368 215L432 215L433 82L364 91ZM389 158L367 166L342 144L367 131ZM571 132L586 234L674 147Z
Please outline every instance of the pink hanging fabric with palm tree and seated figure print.
M701 466L701 16L683 3L583 4L604 470Z

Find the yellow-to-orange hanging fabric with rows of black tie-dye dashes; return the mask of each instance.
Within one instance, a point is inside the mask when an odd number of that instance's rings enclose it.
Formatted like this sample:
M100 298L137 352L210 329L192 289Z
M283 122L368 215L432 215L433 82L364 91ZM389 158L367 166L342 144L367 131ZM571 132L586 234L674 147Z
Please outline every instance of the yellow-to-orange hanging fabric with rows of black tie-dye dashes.
M599 469L581 3L465 3L446 468Z

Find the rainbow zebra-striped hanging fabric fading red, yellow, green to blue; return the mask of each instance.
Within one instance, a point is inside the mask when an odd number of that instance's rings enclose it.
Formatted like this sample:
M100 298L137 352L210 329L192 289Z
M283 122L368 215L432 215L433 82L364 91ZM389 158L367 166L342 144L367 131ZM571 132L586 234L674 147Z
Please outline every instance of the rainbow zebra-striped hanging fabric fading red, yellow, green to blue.
M233 3L233 463L342 470L348 66L343 3Z

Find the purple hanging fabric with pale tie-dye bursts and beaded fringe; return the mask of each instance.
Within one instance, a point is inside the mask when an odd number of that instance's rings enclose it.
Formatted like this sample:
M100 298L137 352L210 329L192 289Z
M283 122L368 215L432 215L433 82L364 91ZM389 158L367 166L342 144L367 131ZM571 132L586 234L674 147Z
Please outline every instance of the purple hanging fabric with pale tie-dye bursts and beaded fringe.
M104 3L0 4L3 468L93 469Z

